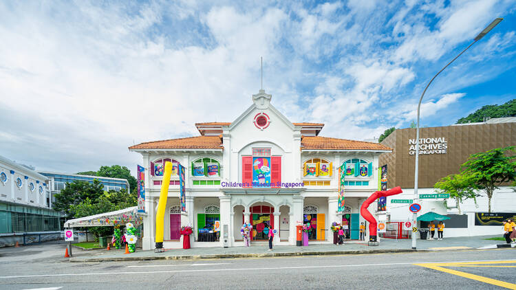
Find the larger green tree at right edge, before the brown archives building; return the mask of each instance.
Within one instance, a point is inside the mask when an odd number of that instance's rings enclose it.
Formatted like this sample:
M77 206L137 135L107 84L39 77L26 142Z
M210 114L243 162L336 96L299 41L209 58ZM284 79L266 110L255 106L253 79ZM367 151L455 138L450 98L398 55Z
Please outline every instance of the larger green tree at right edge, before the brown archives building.
M473 177L477 188L486 192L488 212L491 212L491 198L499 185L516 180L515 146L495 148L473 154L462 167L466 175Z

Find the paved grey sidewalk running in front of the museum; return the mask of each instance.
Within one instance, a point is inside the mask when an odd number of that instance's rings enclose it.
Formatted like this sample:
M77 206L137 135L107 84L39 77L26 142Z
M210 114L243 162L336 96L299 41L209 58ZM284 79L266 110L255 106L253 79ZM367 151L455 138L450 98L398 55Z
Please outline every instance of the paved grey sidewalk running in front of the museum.
M445 238L442 241L420 240L417 241L417 251L436 250L460 250L478 249L489 245L503 243L502 241L489 241L484 238L493 236L475 236L461 238ZM318 244L308 247L276 246L268 251L268 246L259 245L251 247L198 247L191 249L166 249L163 253L150 251L138 251L125 254L125 249L106 251L86 251L80 253L80 257L69 258L70 262L107 262L122 260L185 260L200 258L249 258L249 257L275 257L275 256L303 256L303 255L338 255L338 254L372 254L372 253L396 253L413 252L412 241L409 239L393 240L381 239L380 245L368 246L367 242L351 241L345 245ZM91 253L91 254L90 254Z

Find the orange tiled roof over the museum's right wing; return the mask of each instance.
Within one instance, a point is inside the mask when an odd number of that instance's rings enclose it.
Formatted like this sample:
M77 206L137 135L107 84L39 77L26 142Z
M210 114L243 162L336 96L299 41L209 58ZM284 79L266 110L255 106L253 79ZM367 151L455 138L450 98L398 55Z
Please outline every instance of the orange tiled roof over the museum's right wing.
M382 144L321 136L301 137L301 150L392 150Z

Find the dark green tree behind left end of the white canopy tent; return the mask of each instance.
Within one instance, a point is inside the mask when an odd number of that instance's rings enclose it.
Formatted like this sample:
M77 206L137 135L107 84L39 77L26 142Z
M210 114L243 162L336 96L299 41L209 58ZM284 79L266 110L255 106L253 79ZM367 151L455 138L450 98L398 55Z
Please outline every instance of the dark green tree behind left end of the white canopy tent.
M67 219L71 219L75 216L71 205L77 205L86 199L96 200L104 193L103 188L103 184L97 179L93 183L75 180L66 183L65 188L54 195L56 201L52 205L54 210L64 212Z

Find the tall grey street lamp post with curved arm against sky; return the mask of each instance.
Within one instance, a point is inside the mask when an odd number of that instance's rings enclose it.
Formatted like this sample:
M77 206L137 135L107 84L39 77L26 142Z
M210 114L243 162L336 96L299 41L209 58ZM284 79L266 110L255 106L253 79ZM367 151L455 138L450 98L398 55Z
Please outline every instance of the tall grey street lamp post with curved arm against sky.
M460 52L460 54L458 54L458 56L455 56L455 58L453 58L447 65L445 65L435 76L433 76L433 78L430 80L430 82L428 83L427 87L424 88L424 91L423 93L421 94L421 97L419 98L419 103L418 103L418 122L416 124L416 170L414 170L414 197L413 197L413 201L416 202L416 199L419 199L419 196L418 196L418 171L419 171L419 111L420 111L420 108L421 108L421 102L423 100L423 96L424 96L424 93L427 91L428 87L430 86L430 84L433 82L433 79L435 79L440 73L441 71L444 71L444 69L446 69L451 63L453 63L454 60L456 60L457 58L459 58L459 56L461 56L461 54L464 54L464 52L466 52L467 49L469 49L469 47L471 47L471 45L475 44L477 41L480 41L480 39L482 39L482 37L486 36L486 34L488 34L488 32L490 32L498 23L500 23L502 20L504 20L503 18L497 18L495 20L493 20L493 22L491 22L491 24L487 25L486 28L484 28L484 30L482 30L482 32L480 32L474 39L473 39L473 42L468 45L468 47L464 48L462 50L462 52ZM413 222L414 224L417 224L418 222L418 214L415 212L413 214ZM416 232L412 232L412 249L416 249Z

